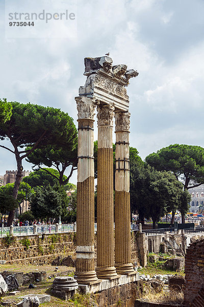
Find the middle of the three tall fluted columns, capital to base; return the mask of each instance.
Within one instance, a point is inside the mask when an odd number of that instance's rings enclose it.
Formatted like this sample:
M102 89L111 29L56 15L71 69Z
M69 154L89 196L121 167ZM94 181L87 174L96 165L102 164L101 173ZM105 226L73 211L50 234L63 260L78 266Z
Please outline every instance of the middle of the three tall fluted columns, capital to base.
M97 268L98 278L117 277L114 267L112 105L98 105Z

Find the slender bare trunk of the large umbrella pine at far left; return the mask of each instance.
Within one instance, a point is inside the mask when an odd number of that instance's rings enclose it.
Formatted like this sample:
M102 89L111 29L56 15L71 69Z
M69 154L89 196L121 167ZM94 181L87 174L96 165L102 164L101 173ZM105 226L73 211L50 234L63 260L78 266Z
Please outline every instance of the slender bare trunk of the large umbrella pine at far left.
M19 153L15 153L15 156L16 156L16 162L17 162L17 174L16 174L16 180L15 180L14 188L13 188L13 198L16 200L17 195L18 195L20 182L21 182L21 179L22 179L23 167L22 167L22 164L21 164L21 159L20 159ZM9 217L8 217L8 222L7 222L8 227L13 224L14 214L15 214L15 210L12 210L12 211L9 212Z

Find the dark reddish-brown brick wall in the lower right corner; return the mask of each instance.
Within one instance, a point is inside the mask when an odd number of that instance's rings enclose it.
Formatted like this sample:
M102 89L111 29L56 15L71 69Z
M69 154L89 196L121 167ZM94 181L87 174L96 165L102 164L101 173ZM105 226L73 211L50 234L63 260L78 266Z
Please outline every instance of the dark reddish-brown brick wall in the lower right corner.
M204 239L190 244L185 258L184 302L204 306Z

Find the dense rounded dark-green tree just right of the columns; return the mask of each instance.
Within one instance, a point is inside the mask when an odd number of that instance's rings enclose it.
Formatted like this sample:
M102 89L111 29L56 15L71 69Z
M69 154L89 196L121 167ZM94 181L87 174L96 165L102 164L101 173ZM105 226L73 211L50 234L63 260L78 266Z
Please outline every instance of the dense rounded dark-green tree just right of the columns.
M156 222L167 212L181 206L183 185L171 172L157 171L149 165L136 168L132 181L132 211L139 213L139 220L152 218L153 228Z

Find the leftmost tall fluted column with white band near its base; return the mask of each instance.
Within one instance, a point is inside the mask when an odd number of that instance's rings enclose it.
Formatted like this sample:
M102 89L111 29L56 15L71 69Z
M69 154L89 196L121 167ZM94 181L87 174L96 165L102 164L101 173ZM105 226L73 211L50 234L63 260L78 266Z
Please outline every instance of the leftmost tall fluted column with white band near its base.
M78 283L97 280L94 271L94 158L95 105L87 97L75 97L78 109L77 260Z

